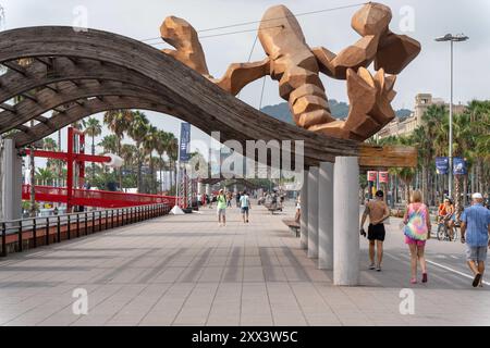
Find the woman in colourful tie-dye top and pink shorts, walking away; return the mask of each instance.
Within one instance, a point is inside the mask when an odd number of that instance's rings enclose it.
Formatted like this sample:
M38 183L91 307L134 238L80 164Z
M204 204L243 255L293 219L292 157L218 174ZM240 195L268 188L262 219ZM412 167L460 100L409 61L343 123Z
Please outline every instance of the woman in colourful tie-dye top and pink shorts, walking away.
M427 283L427 265L425 258L426 240L430 238L430 214L429 209L421 202L421 192L415 190L412 192L411 203L406 207L403 216L403 234L405 244L411 250L411 283L417 283L417 261L420 263L422 272L422 283Z

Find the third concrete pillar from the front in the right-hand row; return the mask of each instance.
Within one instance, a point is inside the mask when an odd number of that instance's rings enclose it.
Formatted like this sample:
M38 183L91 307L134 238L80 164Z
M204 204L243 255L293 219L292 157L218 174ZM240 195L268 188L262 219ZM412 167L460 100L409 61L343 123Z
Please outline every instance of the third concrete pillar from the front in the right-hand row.
M308 258L318 258L318 166L308 173Z

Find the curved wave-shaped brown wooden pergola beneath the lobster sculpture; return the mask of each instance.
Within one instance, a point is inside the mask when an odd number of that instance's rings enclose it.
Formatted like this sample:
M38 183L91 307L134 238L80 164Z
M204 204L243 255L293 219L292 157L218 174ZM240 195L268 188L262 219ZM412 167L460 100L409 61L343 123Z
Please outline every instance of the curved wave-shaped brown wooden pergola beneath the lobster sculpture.
M27 65L19 64L30 59ZM0 135L24 147L94 113L144 109L176 116L221 140L304 140L306 166L358 156L365 167L414 166L413 148L377 148L281 122L207 80L151 46L117 34L72 27L0 33ZM8 101L21 96L21 101ZM49 111L57 111L47 116ZM29 126L35 120L35 125ZM292 149L294 152L294 149Z

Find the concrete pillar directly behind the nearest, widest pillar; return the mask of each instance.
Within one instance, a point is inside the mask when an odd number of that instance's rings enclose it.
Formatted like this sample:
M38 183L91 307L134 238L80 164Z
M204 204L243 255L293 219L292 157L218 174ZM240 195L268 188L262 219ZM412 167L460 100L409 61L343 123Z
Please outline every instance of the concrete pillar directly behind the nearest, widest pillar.
M322 162L318 173L318 268L333 269L333 163Z

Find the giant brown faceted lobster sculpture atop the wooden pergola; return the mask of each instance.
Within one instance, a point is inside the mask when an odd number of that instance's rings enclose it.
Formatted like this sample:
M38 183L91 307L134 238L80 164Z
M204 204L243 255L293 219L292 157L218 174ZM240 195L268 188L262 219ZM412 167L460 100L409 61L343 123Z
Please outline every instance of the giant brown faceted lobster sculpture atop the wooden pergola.
M267 54L262 61L233 63L223 77L208 71L196 30L182 18L169 16L160 27L161 37L175 50L163 50L236 95L247 84L269 75L279 82L279 94L287 100L296 125L333 137L365 140L393 120L391 101L397 75L420 52L420 44L390 32L390 8L367 3L352 17L360 39L338 54L323 47L310 48L295 16L284 5L268 9L258 29ZM367 67L375 63L376 74ZM319 73L346 79L350 112L345 121L330 114ZM389 74L389 75L387 75Z

